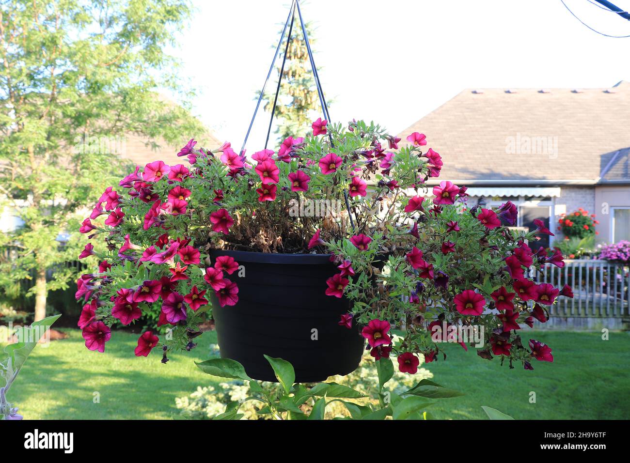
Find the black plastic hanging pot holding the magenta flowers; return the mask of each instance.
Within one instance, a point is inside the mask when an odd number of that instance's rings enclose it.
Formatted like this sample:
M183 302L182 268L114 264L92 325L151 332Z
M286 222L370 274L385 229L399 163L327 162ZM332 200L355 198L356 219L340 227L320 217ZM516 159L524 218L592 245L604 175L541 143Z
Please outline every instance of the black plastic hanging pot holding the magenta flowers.
M244 277L226 275L239 288L236 306L219 306L209 291L222 358L242 363L253 379L274 382L263 354L291 362L295 382L357 369L364 338L356 323L352 329L338 324L350 302L324 294L326 280L339 272L328 254L210 251L213 263L222 255L244 266Z

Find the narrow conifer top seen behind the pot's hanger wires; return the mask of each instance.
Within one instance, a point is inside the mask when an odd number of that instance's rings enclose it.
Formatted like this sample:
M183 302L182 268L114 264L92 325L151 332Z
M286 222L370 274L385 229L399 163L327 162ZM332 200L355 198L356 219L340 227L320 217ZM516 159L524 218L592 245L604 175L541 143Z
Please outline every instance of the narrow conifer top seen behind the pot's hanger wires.
M287 50L287 61L282 74L282 82L280 83L280 94L274 114L274 120L277 122L275 133L278 134L278 142L282 142L289 136L304 136L311 129L312 113L319 110L321 106L297 12L295 16L289 50ZM315 42L312 38L312 23L307 22L304 26L306 27L312 50ZM280 47L282 53L278 56L276 65L278 74L282 68L282 59L286 46L287 38L285 37ZM273 86L273 89L266 91L263 96L265 111L271 112L273 108L276 88L277 85Z

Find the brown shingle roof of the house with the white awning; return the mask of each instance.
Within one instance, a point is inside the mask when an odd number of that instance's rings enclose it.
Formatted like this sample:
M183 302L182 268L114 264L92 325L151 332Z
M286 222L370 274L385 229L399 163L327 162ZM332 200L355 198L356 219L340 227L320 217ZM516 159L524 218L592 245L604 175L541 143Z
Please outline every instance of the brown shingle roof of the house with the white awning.
M595 183L610 154L630 147L630 83L467 89L398 136L406 142L412 132L426 134L444 159L438 180ZM622 169L614 171L620 181Z

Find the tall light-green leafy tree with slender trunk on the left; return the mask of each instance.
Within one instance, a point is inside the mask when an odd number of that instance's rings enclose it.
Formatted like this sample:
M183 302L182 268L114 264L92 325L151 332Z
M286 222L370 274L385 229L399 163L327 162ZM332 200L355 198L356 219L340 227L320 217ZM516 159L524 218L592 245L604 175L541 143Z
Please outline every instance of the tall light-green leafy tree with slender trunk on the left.
M34 278L27 295L35 296L39 320L48 291L76 276L69 264L81 248L80 219L120 175L109 150L98 142L82 149L81 140L138 134L147 144L170 144L203 130L187 106L156 93L183 88L179 63L164 47L190 5L3 0L0 8L0 209L23 222L0 237L0 251L14 254L0 262L0 287L15 294L20 280ZM50 282L47 269L54 269Z

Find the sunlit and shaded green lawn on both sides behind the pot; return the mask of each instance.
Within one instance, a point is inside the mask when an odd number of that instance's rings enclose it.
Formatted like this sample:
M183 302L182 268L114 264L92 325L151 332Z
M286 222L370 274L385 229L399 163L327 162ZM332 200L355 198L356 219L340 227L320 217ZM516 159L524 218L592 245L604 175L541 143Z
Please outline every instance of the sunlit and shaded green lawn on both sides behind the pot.
M193 360L209 357L215 333L197 338L191 353L172 355L163 365L161 352L134 357L137 335L113 333L105 354L89 352L81 332L64 330L66 340L38 346L9 393L9 401L26 418L155 419L178 411L175 397L206 386L210 377ZM531 336L530 336L531 334ZM534 371L510 370L498 360L483 360L474 349L445 346L447 360L423 365L433 380L466 396L442 399L432 407L436 418L484 418L488 405L519 419L627 419L630 416L630 333L538 331L524 333L553 348L554 362L534 361ZM536 403L530 403L530 392ZM100 403L94 403L95 392Z

